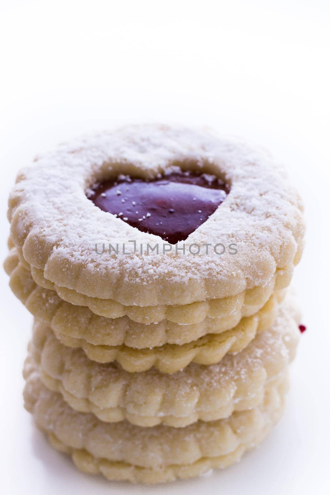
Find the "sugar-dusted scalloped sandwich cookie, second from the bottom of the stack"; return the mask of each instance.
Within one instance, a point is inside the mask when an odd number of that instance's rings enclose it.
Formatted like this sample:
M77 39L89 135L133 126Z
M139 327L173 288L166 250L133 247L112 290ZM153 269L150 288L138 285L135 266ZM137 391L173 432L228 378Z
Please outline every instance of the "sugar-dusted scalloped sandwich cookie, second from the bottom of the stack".
M299 322L289 298L273 326L243 351L212 366L190 364L173 375L155 369L132 374L115 364L98 364L81 350L64 347L37 323L24 375L37 368L44 384L72 408L102 421L176 427L214 421L259 406L269 384L282 380L295 355Z

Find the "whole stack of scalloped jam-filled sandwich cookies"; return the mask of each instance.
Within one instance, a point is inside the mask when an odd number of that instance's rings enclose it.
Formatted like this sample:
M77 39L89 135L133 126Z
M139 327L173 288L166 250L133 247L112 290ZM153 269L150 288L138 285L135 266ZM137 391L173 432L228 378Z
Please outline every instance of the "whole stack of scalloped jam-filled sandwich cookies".
M302 204L264 151L143 125L62 145L9 198L10 287L34 316L25 407L79 469L223 468L283 411Z

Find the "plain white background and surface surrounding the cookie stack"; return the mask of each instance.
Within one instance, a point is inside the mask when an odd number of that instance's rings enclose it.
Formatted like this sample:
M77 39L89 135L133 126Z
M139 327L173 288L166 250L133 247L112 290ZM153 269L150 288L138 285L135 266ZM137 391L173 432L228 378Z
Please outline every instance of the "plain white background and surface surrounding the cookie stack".
M308 330L286 413L240 464L162 487L109 484L53 451L23 409L31 315L1 272L5 494L329 494L329 1L2 1L1 259L7 196L34 154L131 122L210 124L269 148L306 205L294 283Z

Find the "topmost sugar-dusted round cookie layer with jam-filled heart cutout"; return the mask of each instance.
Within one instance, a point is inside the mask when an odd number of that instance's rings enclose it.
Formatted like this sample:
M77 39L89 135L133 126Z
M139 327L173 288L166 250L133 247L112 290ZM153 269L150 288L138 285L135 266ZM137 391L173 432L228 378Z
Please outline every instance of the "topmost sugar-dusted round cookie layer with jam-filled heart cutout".
M159 189L154 194L157 181L166 186L165 198ZM144 211L148 194L151 213ZM170 221L165 215L164 225L172 230L162 233L156 206L163 201L167 208L169 194L177 209L168 209L175 215ZM131 218L127 205L126 216L116 213L116 196L132 203ZM194 221L189 227L185 204ZM37 157L17 177L8 218L15 245L46 280L89 297L150 306L231 297L266 285L297 261L302 209L283 168L263 151L209 129L143 125Z

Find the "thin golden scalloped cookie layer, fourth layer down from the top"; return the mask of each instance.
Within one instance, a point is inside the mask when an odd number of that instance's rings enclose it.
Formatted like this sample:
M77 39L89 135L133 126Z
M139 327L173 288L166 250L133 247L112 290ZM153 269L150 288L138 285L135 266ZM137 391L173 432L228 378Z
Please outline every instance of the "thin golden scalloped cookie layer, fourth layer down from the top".
M219 362L227 353L236 353L244 349L254 339L257 332L266 330L274 321L278 313L276 296L272 296L265 307L255 315L242 318L231 330L220 334L207 334L204 337L178 346L165 344L160 347L137 349L125 345L119 346L94 346L79 339L66 339L57 335L59 339L69 347L81 347L86 355L101 363L117 361L131 373L142 372L154 367L162 373L175 373L182 370L189 363L214 364ZM45 328L46 327L46 328ZM52 337L52 332L47 324L35 323L35 330L43 334L47 333L49 342L53 343L53 352L57 354L57 339ZM58 342L59 345L59 342Z

